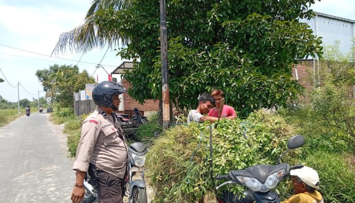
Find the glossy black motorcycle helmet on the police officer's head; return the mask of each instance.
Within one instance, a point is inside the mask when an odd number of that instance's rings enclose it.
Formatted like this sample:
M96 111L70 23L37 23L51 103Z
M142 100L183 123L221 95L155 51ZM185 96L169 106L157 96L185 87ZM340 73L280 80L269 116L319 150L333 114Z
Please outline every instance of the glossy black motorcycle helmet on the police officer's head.
M113 104L113 97L124 92L127 91L122 85L111 81L103 81L92 90L92 99L95 105L99 107L110 107L113 111L118 111L118 108Z

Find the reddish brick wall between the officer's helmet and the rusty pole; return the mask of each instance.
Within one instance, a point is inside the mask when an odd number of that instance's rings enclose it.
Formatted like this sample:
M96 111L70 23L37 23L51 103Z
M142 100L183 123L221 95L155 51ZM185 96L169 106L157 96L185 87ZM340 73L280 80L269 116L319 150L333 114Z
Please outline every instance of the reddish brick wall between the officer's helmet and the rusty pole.
M129 89L130 87L129 82L124 79L121 80L121 85L125 89ZM144 111L145 116L148 116L159 110L159 100L147 99L143 105L140 105L137 101L135 101L135 99L130 97L128 93L123 93L123 106L124 111L133 110L134 107L136 107L139 111Z

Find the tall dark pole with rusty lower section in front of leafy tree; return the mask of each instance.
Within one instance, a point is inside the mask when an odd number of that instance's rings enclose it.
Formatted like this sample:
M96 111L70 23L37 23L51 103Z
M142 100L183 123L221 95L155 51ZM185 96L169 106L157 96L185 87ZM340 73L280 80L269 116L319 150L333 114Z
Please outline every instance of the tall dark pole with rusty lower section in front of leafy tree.
M160 54L162 74L163 127L167 129L170 123L169 82L168 82L168 49L165 0L160 0Z

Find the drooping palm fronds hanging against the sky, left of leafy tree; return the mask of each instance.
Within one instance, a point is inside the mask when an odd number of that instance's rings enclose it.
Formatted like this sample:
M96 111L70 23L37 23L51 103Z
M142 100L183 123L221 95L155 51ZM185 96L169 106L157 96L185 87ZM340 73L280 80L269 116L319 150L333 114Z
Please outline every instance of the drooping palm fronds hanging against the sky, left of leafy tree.
M124 10L131 5L131 2L132 0L94 0L85 16L84 23L70 31L63 32L52 54L64 53L66 48L70 52L87 52L93 48L116 46L119 42L127 45L128 38L120 36L115 29L107 29L97 24L95 19L97 19L96 13L101 10Z

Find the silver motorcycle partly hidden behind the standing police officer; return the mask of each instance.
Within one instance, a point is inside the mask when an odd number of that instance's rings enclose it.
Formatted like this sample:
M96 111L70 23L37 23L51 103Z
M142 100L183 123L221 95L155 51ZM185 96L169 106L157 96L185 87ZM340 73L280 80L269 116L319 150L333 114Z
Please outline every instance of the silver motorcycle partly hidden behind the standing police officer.
M125 181L124 194L128 194L129 203L147 203L147 185L144 180L144 165L148 148L143 143L132 143L128 147L128 180ZM140 173L140 179L133 180L136 173ZM85 194L81 203L91 203L97 198L96 190L89 183L90 179L84 180ZM125 195L126 196L126 195Z

